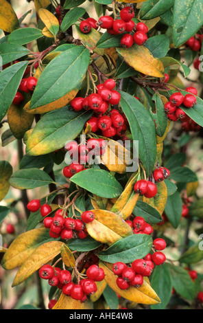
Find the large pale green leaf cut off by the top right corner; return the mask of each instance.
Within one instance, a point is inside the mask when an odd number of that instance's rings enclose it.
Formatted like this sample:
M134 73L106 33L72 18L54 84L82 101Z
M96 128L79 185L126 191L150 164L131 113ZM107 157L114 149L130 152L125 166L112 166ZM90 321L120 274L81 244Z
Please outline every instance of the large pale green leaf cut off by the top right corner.
M174 3L174 45L179 47L196 34L203 25L201 0L175 0Z

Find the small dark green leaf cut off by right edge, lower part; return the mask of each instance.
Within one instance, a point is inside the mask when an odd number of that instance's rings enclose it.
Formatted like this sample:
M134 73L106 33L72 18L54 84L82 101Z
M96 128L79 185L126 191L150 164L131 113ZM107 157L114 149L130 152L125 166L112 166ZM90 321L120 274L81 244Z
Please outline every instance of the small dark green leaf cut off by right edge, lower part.
M189 265L199 263L203 259L203 252L202 252L201 243L202 242L192 245L187 250L187 252L184 252L184 254L178 259L178 261L180 261L180 263L185 263L185 264L189 264Z

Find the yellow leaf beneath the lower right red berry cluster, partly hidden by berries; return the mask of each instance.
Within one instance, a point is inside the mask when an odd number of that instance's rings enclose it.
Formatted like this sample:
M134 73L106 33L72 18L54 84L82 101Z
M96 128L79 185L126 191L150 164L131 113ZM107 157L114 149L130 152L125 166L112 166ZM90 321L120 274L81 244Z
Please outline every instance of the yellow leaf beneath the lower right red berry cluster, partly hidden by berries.
M143 285L139 288L130 287L128 289L122 290L117 286L117 275L112 272L112 265L109 263L99 263L99 267L104 269L105 280L107 284L118 293L121 297L130 300L131 302L136 302L138 304L158 304L160 303L160 298L158 298L156 292L149 284L149 280L145 280Z

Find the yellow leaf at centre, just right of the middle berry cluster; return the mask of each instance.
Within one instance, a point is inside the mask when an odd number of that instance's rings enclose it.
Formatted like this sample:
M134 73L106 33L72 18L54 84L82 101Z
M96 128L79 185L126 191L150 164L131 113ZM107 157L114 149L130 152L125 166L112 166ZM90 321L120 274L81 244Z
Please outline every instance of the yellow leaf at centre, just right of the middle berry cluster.
M119 142L115 142L115 140L109 140L105 137L104 140L108 141L108 144L104 155L101 156L101 160L108 170L123 174L123 172L126 172L126 166L131 162L130 151Z

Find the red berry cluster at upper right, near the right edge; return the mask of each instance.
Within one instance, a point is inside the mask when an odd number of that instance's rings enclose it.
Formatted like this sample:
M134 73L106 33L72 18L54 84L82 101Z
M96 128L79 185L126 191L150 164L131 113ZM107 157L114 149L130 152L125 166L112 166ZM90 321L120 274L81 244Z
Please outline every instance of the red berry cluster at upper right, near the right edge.
M169 101L165 104L165 112L167 113L167 117L171 121L177 121L181 120L189 121L189 116L180 108L181 104L185 108L192 108L197 104L197 99L195 96L197 96L198 92L194 87L187 87L185 89L188 94L183 96L182 93L176 92L171 94ZM194 94L194 95L193 95Z

